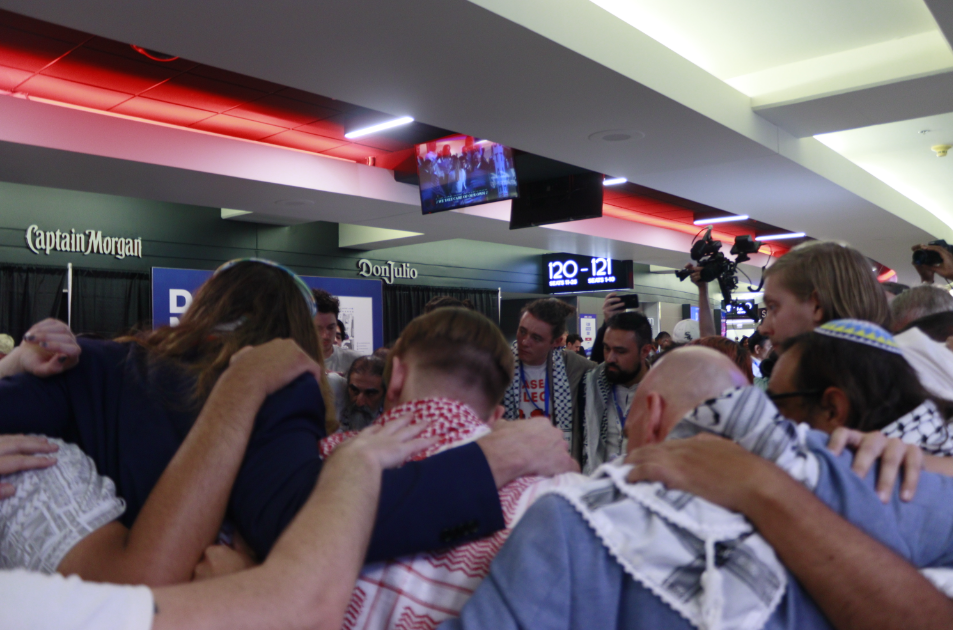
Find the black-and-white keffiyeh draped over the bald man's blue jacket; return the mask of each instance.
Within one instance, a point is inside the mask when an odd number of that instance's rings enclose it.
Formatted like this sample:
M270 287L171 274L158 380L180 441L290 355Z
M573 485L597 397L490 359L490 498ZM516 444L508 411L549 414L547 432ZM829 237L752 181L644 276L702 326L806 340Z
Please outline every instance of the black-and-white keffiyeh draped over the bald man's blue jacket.
M745 387L700 405L669 439L722 435L813 488L820 465L806 446L808 431L779 416L760 389ZM787 587L771 546L742 515L660 483L626 483L629 470L608 463L551 492L579 511L628 575L696 628L761 628Z

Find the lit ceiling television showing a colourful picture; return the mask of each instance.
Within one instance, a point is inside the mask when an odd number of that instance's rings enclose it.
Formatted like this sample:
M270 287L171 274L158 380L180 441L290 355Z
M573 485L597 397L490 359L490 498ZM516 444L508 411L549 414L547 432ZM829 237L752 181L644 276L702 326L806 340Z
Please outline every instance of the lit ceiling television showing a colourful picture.
M518 196L513 150L472 136L417 145L420 205L424 214Z

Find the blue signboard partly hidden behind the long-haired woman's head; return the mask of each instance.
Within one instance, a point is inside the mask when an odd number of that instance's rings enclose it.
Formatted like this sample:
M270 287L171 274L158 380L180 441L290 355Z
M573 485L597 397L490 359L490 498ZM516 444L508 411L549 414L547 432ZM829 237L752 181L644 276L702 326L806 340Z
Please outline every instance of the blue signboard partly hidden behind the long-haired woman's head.
M192 296L211 271L152 268L152 322L155 328L178 324L192 304ZM370 354L384 345L384 298L380 280L351 280L301 276L314 289L324 289L341 300L341 321L353 350Z

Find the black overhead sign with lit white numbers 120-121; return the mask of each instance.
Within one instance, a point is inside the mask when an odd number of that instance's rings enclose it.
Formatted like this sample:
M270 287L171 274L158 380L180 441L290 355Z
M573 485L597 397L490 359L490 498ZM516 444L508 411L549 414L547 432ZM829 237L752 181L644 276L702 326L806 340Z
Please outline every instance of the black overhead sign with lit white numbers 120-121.
M581 293L632 288L632 261L544 254L543 278L548 293Z

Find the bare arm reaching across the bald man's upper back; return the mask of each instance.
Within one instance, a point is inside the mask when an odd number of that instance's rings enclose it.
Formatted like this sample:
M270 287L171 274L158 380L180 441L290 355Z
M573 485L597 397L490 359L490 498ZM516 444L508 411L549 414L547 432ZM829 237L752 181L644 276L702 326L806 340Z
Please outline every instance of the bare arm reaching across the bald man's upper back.
M630 481L660 481L744 514L838 630L949 628L953 602L773 463L700 435L636 449Z

